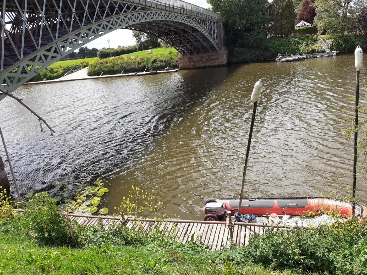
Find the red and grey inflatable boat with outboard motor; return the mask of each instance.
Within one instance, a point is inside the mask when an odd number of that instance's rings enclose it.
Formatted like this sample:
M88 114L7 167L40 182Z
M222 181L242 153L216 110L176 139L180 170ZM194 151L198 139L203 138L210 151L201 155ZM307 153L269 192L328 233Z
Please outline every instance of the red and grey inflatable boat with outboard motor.
M217 199L206 202L201 209L205 212L204 220L223 220L225 211L231 211L232 216L237 212L239 199ZM355 216L364 219L367 216L366 207L356 203ZM279 216L315 216L317 214L336 211L344 217L352 216L352 203L331 198L246 198L242 199L241 214L268 216L276 213Z

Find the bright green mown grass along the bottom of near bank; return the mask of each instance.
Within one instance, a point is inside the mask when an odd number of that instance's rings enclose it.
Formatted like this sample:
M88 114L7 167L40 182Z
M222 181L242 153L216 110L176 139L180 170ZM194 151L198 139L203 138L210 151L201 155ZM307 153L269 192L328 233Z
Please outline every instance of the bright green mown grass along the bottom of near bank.
M41 247L19 234L0 234L0 274L238 274L192 256L164 248L157 252L128 246ZM280 274L257 266L241 271Z

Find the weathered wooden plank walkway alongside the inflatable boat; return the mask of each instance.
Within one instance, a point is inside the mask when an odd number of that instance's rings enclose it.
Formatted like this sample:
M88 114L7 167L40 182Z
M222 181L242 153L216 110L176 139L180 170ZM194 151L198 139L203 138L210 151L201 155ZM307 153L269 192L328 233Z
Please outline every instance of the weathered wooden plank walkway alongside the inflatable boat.
M177 241L196 242L208 246L211 250L219 250L230 246L228 224L224 221L187 221L170 220L157 221L155 219L137 219L134 217L93 216L85 214L65 214L70 220L86 226L102 224L108 228L113 224L124 224L130 230L161 231L167 235L174 235ZM253 223L233 223L233 242L237 246L246 246L251 235L262 235L268 231L288 230L289 227L276 227Z

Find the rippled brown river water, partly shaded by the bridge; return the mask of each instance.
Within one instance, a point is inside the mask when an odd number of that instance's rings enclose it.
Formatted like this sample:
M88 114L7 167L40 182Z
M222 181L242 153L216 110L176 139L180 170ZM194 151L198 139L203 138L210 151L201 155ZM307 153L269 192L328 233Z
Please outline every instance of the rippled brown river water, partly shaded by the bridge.
M1 126L23 194L57 194L102 179L110 184L110 209L134 185L154 188L169 216L201 219L206 199L239 192L259 78L264 90L246 195L317 195L329 176L348 186L353 142L343 139L337 119L350 109L353 67L353 55L340 55L23 86L15 95L56 135L40 133L37 120L11 99L0 102ZM357 186L366 202L367 180Z

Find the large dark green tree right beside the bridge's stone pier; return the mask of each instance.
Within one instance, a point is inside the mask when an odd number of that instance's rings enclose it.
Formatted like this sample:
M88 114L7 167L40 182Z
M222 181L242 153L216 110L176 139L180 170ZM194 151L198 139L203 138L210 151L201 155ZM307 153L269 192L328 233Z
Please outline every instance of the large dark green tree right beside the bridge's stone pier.
M264 58L269 25L267 0L207 0L225 23L225 44L230 62L251 62Z

